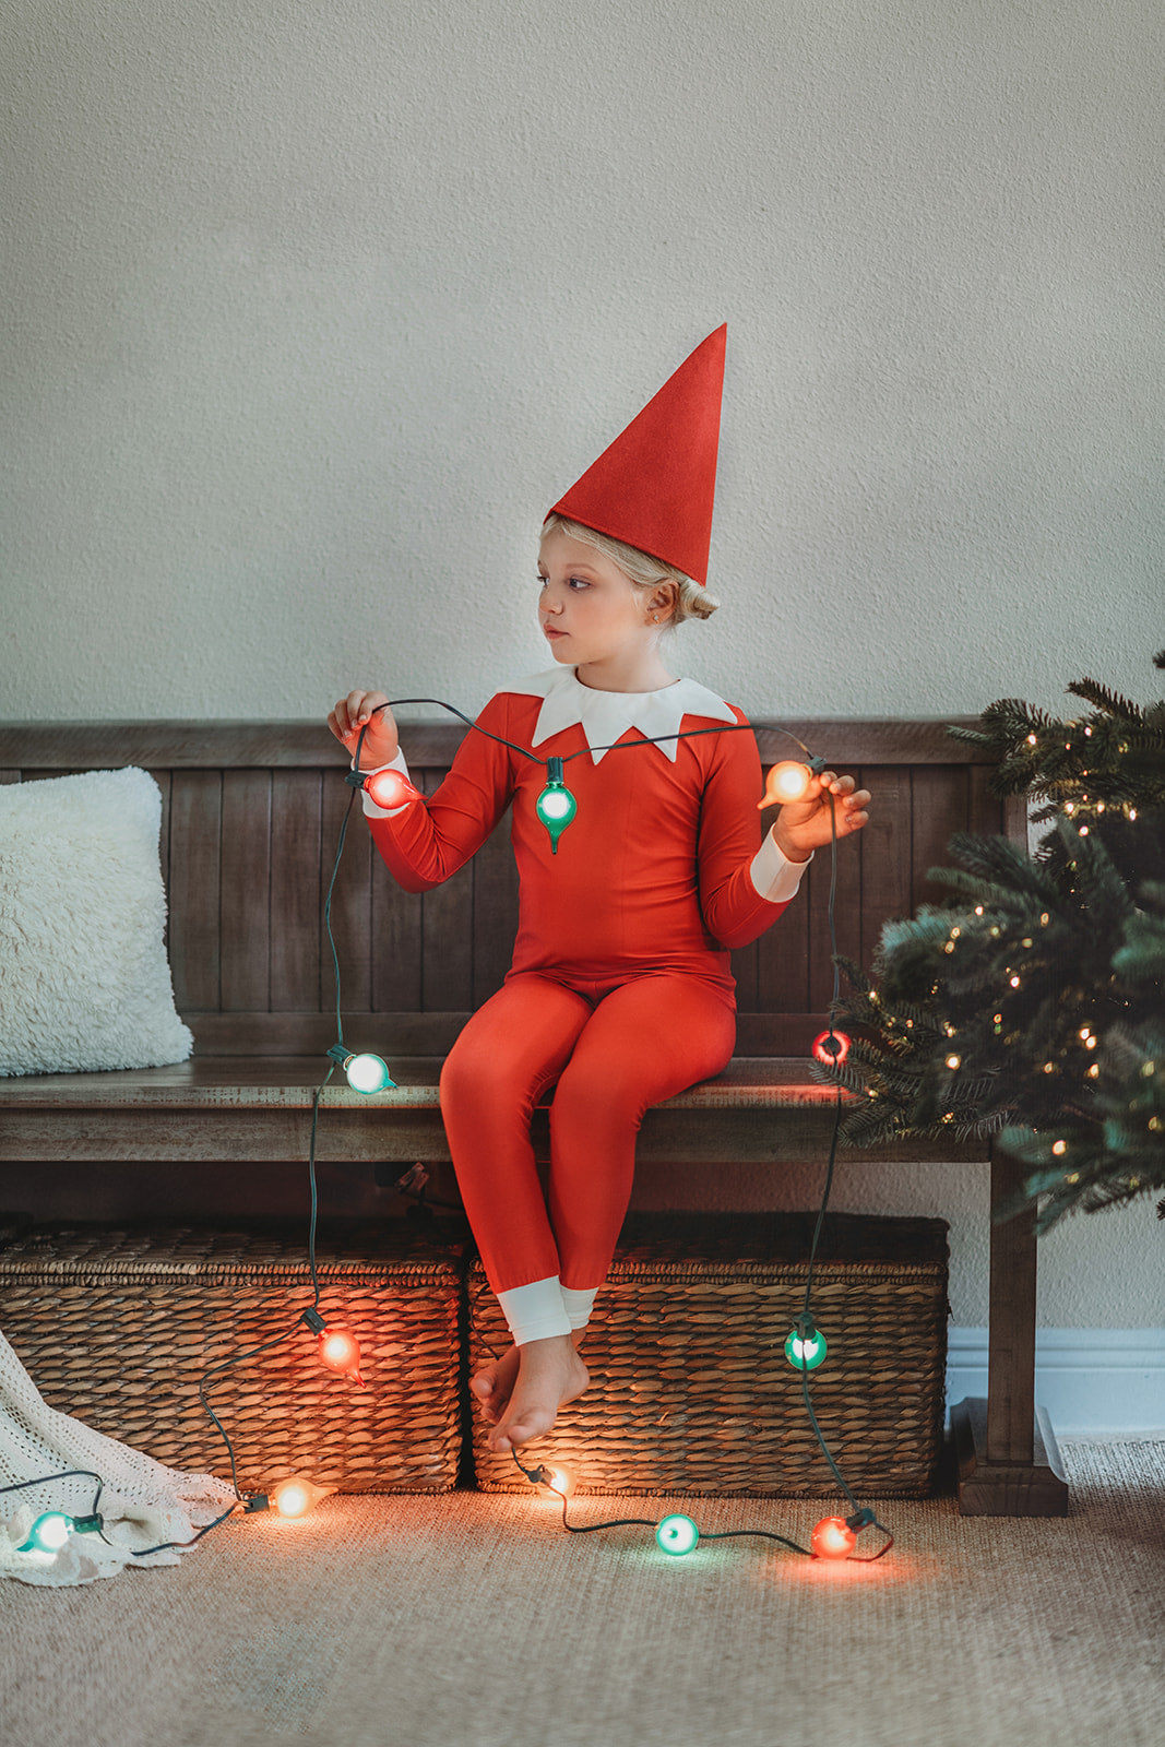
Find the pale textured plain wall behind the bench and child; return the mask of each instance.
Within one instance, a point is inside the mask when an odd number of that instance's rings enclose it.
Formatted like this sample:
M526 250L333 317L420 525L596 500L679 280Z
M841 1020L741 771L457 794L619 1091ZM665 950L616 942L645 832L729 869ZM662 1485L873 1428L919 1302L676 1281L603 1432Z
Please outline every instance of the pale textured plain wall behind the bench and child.
M0 33L0 716L479 706L545 664L545 508L721 320L688 673L758 715L1155 695L1158 0L7 0ZM1160 1321L1155 1244L1146 1209L1053 1239L1046 1319Z

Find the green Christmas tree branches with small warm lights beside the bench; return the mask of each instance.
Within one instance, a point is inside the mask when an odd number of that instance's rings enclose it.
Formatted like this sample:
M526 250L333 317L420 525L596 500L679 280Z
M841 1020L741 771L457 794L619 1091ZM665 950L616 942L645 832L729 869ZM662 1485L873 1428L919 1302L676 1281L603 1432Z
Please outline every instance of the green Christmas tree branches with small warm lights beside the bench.
M957 865L929 875L950 903L887 922L873 980L840 961L852 1046L814 1069L863 1097L854 1146L996 1134L1032 1167L1041 1230L1165 1188L1165 702L1069 692L1092 713L1003 699L950 730L990 748L992 791L1044 802L1031 818L1050 830L1034 856L950 840Z

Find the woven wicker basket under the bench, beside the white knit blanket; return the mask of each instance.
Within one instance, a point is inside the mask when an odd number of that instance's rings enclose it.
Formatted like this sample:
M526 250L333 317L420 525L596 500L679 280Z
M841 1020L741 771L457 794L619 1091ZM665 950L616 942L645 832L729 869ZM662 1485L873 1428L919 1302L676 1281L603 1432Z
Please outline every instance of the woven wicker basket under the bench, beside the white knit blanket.
M306 1230L33 1228L0 1249L0 1328L45 1401L178 1469L229 1478L199 1396L222 1359L290 1331L206 1392L239 1485L286 1474L342 1492L447 1492L458 1476L461 1260L412 1228L321 1233L320 1310L362 1349L327 1371Z

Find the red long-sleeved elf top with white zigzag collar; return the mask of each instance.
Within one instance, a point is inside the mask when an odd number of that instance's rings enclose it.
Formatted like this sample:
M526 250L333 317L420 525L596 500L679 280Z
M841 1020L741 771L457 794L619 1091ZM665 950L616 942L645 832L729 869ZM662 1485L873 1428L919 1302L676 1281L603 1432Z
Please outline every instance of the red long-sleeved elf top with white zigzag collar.
M587 692L573 673L540 678L559 697L564 685ZM702 694L692 681L679 683L688 695ZM667 690L639 695L665 699ZM704 697L716 702L711 694ZM517 746L534 746L541 711L543 695L500 692L477 720ZM720 706L718 715L746 723L734 706ZM711 708L681 718L683 728L713 725ZM547 971L566 982L590 982L667 970L732 992L728 950L756 940L781 915L796 875L784 880L777 901L762 896L753 879L763 790L753 734L702 734L671 744L674 760L631 727L596 762L578 720L536 744L540 760L568 760L564 781L578 802L557 854L534 811L547 783L545 763L475 730L426 802L393 814L372 816L369 805L365 811L396 882L405 891L428 891L480 849L514 804L519 929L510 975ZM779 851L776 856L784 860Z

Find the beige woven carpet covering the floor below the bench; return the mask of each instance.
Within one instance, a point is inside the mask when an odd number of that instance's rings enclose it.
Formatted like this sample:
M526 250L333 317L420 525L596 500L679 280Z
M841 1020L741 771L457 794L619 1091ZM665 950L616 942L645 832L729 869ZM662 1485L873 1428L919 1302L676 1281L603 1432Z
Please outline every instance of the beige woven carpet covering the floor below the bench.
M0 1585L5 1747L1162 1747L1165 1443L1069 1445L1074 1515L882 1501L875 1565L660 1553L552 1501L348 1497L176 1571ZM683 1501L583 1499L573 1520ZM837 1504L695 1501L802 1539ZM868 1537L863 1537L868 1539Z

